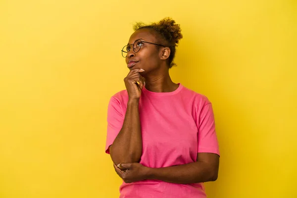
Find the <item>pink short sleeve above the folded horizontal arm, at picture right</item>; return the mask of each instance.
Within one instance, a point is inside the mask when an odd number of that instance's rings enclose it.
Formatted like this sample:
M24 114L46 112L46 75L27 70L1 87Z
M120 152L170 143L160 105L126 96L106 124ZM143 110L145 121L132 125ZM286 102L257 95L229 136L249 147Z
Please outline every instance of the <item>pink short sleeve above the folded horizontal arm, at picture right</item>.
M198 152L220 155L211 103L205 104L199 113Z

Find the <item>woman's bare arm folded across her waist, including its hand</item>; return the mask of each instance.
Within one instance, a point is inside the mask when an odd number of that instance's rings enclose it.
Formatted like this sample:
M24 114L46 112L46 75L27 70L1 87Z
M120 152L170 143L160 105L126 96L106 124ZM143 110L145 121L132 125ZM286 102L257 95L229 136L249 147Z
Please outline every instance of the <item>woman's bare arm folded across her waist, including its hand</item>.
M215 181L218 177L219 155L198 153L197 162L164 168L149 168L140 163L121 163L114 168L126 183L145 179L161 180L178 184ZM122 171L121 169L127 169Z

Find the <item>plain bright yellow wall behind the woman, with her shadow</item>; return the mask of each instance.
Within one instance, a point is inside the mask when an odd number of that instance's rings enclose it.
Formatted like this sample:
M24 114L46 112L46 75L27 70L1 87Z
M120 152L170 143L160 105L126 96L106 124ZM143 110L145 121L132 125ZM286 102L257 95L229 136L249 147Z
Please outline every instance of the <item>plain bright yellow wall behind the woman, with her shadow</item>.
M213 103L221 149L209 198L296 198L296 0L1 0L0 198L116 198L104 153L120 49L170 16L174 82Z

